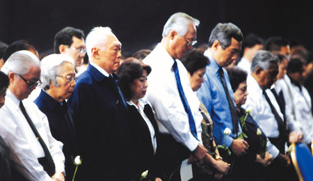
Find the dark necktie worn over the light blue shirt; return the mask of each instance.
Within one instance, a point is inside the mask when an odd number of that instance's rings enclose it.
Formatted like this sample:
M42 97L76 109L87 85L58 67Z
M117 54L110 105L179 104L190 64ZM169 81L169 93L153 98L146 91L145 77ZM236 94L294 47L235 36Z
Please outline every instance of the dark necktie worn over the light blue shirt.
M232 115L232 126L234 127L234 129L232 129L232 133L234 135L237 135L239 131L237 111L236 111L236 108L234 107L234 101L232 100L232 97L230 97L230 92L228 91L228 88L227 88L223 68L220 68L218 70L218 74L220 75L220 81L223 84L228 106L230 107L230 114Z

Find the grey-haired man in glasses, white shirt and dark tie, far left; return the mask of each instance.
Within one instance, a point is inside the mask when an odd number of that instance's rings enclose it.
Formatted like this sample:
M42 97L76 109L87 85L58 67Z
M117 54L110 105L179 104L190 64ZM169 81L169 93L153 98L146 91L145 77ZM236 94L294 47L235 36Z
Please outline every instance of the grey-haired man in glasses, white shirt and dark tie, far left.
M47 116L28 100L40 84L40 61L29 51L15 52L1 71L10 86L0 110L0 134L17 171L28 180L64 180L63 144L51 136Z

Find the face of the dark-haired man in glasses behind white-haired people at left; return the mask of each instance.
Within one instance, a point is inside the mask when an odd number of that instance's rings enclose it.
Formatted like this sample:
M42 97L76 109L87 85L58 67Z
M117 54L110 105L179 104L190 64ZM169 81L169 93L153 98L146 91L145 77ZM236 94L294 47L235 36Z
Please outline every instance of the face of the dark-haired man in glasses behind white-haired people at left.
M79 39L76 37L72 37L72 45L70 47L66 47L64 54L71 56L74 59L75 68L80 66L83 63L83 57L85 56L84 52L79 52L79 49L85 48L85 40Z

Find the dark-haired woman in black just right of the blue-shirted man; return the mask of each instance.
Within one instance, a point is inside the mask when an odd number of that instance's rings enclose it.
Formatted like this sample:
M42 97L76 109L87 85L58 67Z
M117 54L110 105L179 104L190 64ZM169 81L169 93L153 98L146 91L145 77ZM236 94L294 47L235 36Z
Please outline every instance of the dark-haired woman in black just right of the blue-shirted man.
M273 156L266 151L266 136L259 128L252 116L241 106L247 100L247 72L240 68L227 68L230 77L230 84L234 91L234 102L236 104L237 115L241 119L241 128L246 134L245 140L249 149L244 157L241 157L240 178L241 180L266 180L264 167L271 164ZM245 120L246 118L246 120ZM242 121L244 120L244 121ZM257 135L257 130L259 134ZM261 141L264 143L262 144Z

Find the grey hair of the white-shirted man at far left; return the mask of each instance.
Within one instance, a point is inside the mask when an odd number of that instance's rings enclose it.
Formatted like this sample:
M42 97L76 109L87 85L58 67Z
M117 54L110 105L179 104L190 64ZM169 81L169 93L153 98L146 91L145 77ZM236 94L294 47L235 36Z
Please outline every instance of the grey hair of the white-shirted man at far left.
M8 58L1 71L5 74L14 72L15 74L24 75L28 74L32 67L40 67L39 58L27 50L20 50Z

